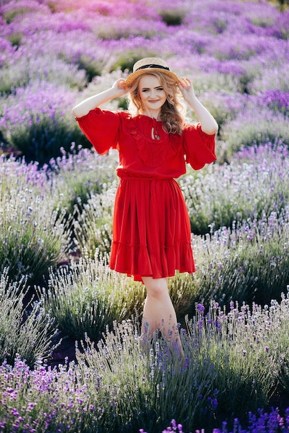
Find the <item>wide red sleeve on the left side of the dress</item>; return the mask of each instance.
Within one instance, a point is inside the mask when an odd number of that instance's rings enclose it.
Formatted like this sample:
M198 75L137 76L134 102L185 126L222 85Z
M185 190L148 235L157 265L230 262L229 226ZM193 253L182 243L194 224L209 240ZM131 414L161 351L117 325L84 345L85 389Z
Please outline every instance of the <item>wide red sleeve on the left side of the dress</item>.
M75 120L100 155L107 154L111 147L116 149L120 127L118 113L96 108L89 111L86 116L75 118Z

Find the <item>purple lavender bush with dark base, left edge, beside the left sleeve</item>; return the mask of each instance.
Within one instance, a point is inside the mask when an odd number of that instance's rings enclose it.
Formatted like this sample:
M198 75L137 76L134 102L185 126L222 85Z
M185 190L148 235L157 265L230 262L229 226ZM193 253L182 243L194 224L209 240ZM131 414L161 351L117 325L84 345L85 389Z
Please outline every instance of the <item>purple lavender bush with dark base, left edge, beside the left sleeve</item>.
M5 100L1 110L0 128L9 145L27 160L48 163L68 150L71 142L87 140L71 114L73 93L65 88L56 91L53 84L18 88ZM69 111L68 111L69 110ZM82 139L77 140L77 136Z

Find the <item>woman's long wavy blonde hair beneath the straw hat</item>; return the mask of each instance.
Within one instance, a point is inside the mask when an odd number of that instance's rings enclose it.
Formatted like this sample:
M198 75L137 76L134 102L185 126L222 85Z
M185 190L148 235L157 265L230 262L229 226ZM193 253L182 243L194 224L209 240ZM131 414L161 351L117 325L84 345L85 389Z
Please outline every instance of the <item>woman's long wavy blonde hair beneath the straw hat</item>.
M160 109L160 120L162 120L162 128L167 133L182 133L185 122L185 107L181 102L182 94L171 77L161 72L149 72L148 75L154 75L160 80L160 86L164 89L167 99ZM137 77L129 90L129 112L133 116L143 113L142 100L138 92L138 84L140 77Z

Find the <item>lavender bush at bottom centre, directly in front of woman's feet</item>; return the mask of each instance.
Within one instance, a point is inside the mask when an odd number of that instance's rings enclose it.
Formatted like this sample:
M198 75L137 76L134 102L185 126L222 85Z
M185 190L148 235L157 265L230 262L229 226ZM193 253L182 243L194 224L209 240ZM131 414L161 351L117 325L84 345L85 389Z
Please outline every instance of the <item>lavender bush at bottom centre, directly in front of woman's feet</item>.
M86 342L88 349L77 353L82 377L95 372L88 384L91 391L98 378L100 393L107 393L106 372L113 383L108 410L104 407L106 422L111 423L106 429L133 432L146 425L158 432L172 413L182 414L187 422L202 412L209 416L216 405L212 366L207 362L200 366L194 356L183 360L177 348L170 349L157 336L144 344L137 326L131 321L115 324L97 347Z

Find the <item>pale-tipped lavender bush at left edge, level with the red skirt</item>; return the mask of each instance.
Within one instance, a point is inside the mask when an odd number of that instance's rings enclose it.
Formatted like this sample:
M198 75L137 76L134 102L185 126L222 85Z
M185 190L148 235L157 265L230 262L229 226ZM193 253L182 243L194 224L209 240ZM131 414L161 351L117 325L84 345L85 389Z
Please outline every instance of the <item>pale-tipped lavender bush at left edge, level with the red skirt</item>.
M64 214L54 207L46 174L13 158L1 160L0 266L13 280L37 281L65 258ZM43 186L45 185L45 186Z

